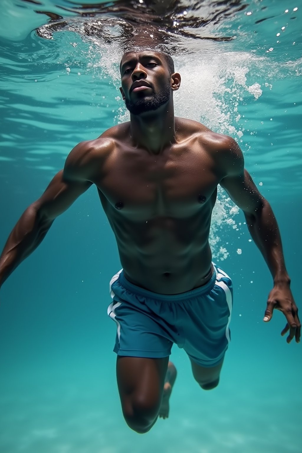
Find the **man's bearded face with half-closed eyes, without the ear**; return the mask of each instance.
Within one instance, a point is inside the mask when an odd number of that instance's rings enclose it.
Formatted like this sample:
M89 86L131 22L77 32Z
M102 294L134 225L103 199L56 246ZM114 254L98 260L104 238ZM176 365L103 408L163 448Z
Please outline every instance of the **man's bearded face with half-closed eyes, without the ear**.
M157 110L171 97L168 65L158 52L127 52L121 61L120 91L133 115Z

